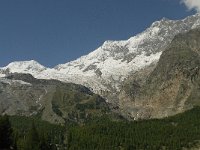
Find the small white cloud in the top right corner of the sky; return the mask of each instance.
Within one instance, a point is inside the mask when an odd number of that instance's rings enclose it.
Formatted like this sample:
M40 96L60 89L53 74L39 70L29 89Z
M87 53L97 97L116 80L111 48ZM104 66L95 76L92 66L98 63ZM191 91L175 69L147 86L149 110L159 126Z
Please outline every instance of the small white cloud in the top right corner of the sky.
M195 9L200 12L200 0L181 0L189 10Z

